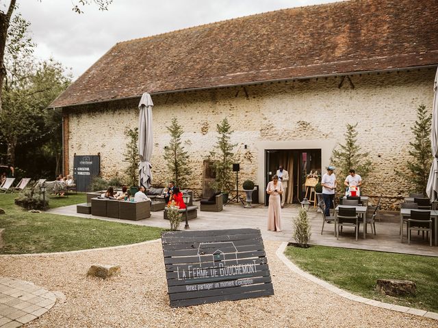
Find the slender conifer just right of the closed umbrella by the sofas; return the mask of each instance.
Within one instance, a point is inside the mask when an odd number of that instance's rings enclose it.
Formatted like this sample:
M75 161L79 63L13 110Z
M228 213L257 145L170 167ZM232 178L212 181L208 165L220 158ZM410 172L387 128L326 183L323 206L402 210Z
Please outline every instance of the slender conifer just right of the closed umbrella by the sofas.
M170 126L166 126L170 133L170 143L164 149L164 159L167 161L167 167L172 174L172 180L178 187L186 187L192 169L189 166L190 157L184 146L181 145L181 136L183 129L178 124L176 118L172 118Z

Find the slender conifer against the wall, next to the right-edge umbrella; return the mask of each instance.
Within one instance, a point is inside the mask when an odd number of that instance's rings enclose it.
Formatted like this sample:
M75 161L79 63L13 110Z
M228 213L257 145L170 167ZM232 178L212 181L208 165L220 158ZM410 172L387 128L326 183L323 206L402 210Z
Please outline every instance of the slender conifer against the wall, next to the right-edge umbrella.
M412 160L407 162L409 173L398 172L405 180L413 184L412 191L421 192L424 195L426 195L427 180L433 159L430 144L431 120L432 114L427 113L426 106L418 106L417 120L411 127L415 139L409 143L412 147L409 150Z

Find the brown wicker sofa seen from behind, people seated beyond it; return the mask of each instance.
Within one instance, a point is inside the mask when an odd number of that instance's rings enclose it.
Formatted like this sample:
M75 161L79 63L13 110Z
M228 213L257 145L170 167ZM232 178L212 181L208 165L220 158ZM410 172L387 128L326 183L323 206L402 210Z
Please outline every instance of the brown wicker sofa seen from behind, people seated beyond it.
M94 197L91 199L91 214L98 217L114 217L125 220L142 220L151 217L151 202L125 202Z

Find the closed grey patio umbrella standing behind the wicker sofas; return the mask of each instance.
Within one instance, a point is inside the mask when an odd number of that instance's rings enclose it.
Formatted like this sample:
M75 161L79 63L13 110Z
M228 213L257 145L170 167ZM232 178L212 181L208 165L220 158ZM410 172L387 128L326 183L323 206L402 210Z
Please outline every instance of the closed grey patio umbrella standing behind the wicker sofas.
M138 118L138 153L140 155L139 183L146 189L151 187L152 172L151 172L151 157L153 149L153 133L152 133L152 107L153 102L151 95L144 92L138 108L140 115Z

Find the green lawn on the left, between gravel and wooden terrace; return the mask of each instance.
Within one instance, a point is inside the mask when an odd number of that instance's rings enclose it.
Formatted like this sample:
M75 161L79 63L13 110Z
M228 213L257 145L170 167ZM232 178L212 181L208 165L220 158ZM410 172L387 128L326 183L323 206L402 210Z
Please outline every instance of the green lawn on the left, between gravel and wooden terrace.
M162 229L127 223L66 217L49 213L28 213L14 204L18 194L0 195L0 228L5 228L5 245L0 254L29 254L73 251L129 245L159 238ZM50 197L50 207L85 202L85 194Z

